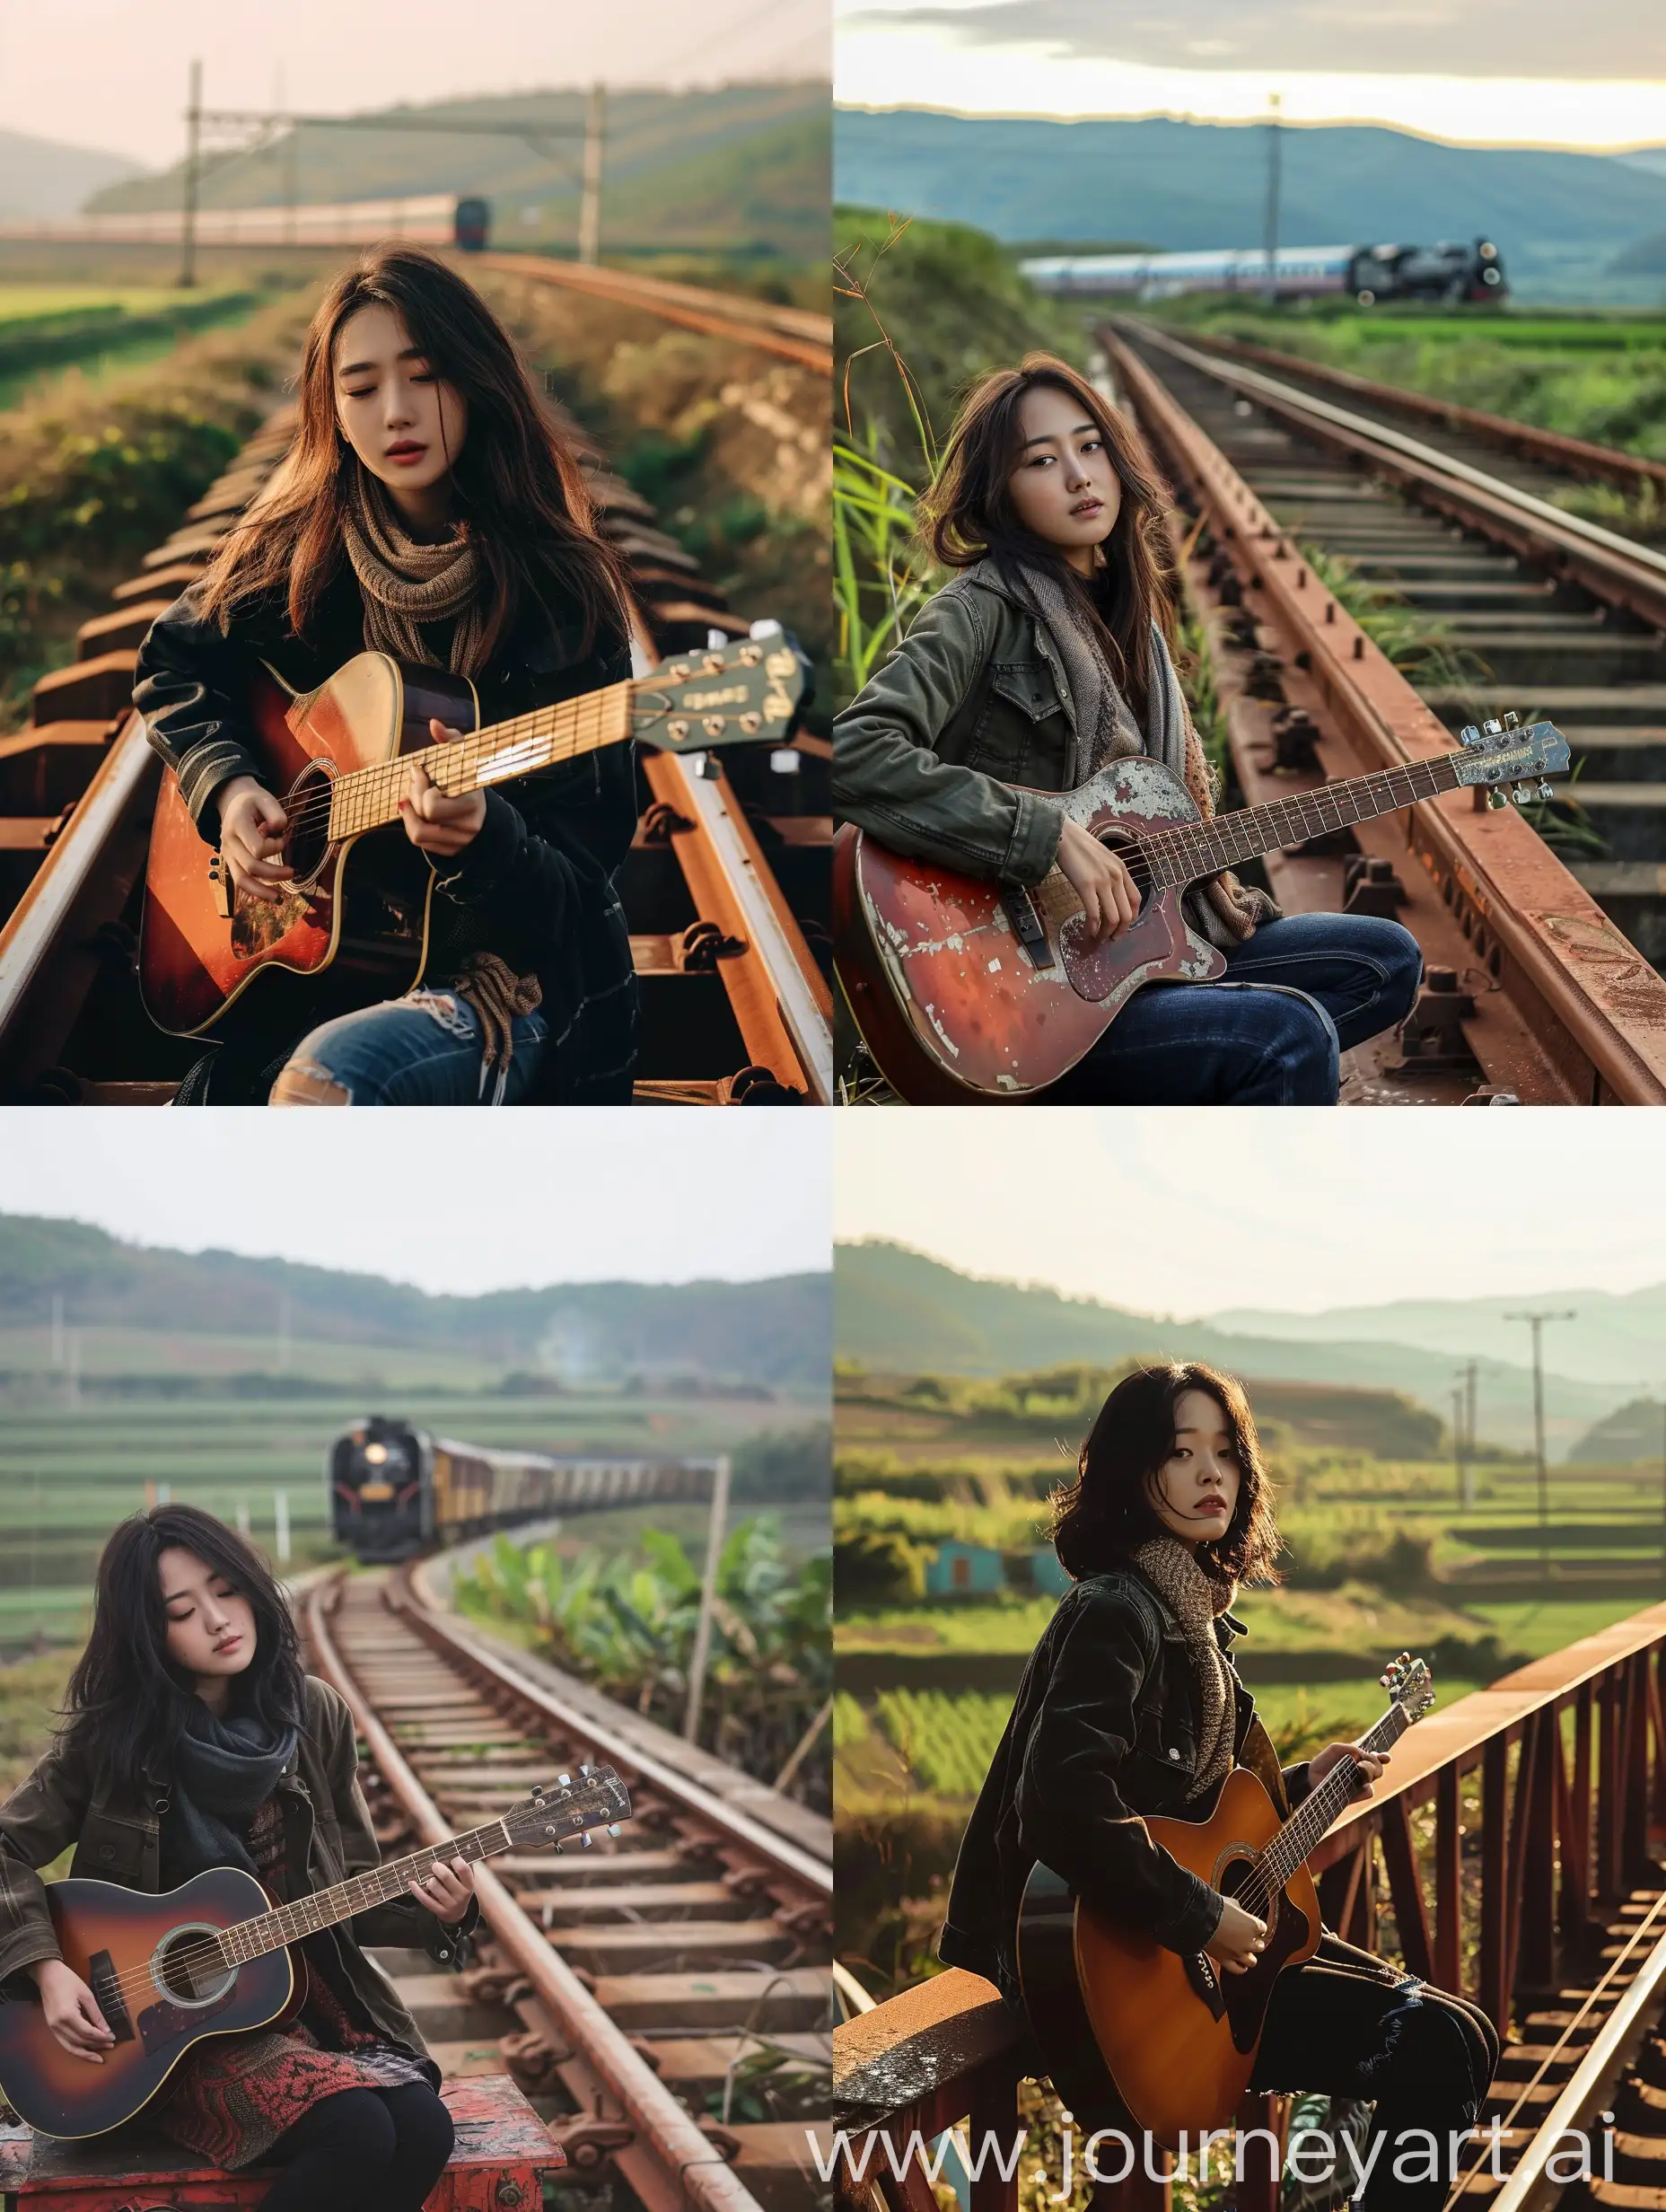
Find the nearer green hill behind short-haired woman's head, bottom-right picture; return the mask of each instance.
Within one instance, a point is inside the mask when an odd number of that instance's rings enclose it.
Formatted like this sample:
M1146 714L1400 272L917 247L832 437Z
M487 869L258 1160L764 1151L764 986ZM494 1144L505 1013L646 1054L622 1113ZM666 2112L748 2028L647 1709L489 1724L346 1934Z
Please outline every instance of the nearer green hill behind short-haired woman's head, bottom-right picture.
M896 1243L845 1243L834 1256L834 1349L878 1374L1011 1376L1073 1360L1115 1365L1142 1358L1193 1358L1277 1383L1343 1383L1405 1391L1418 1405L1451 1411L1454 1358L1381 1343L1361 1329L1336 1343L1283 1338L1279 1316L1241 1314L1175 1321L1095 1298L1066 1298L1033 1283L958 1274L943 1261ZM1544 1376L1551 1453L1566 1458L1595 1420L1626 1396L1615 1385ZM1478 1431L1487 1442L1531 1442L1531 1380L1518 1360L1482 1358Z

